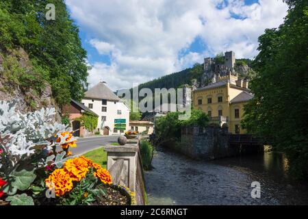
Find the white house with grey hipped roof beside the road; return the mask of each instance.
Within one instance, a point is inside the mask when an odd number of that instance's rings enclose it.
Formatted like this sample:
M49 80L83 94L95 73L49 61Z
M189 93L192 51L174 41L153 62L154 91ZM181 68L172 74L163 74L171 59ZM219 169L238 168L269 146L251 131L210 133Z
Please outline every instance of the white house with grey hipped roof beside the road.
M104 136L129 130L129 107L105 85L105 82L99 82L90 88L85 93L82 103L99 115L97 131Z

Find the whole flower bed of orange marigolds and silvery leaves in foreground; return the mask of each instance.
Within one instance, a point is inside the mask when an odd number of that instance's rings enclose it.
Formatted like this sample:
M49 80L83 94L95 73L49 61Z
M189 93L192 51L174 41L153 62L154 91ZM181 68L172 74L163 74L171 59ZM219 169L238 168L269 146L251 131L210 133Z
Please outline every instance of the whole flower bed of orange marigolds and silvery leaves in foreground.
M130 205L105 168L70 153L77 140L54 114L0 102L0 205Z

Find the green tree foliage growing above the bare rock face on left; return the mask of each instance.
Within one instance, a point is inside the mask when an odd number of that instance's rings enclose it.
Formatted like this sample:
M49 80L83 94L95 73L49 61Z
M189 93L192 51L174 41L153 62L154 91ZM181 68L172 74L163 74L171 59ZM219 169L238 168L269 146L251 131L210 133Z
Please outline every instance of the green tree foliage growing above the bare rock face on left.
M45 18L48 3L55 5L55 21ZM60 105L70 98L81 100L88 76L86 51L64 1L3 0L0 21L0 51L25 49Z

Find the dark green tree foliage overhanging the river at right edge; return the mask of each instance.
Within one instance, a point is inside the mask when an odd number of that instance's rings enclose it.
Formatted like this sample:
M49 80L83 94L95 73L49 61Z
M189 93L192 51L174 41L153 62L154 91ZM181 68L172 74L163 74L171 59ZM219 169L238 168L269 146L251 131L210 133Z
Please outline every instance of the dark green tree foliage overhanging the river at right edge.
M308 176L308 3L286 1L289 10L278 29L259 36L255 98L245 107L244 127L285 152L290 170Z

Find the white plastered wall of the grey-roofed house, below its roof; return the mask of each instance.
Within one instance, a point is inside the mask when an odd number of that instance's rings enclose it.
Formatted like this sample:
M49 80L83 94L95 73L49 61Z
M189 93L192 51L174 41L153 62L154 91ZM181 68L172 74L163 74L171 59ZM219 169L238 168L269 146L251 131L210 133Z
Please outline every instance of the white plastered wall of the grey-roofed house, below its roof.
M102 100L99 99L83 99L81 103L84 103L86 107L89 107L89 103L93 104L93 108L90 109L94 113L99 115L99 123L97 129L103 134L103 127L109 127L109 134L114 133L114 119L115 118L125 118L126 119L126 129L129 130L129 108L122 102L107 101L107 105L102 105ZM102 107L107 107L107 112L102 112ZM121 114L118 115L117 111L121 110ZM106 116L106 120L102 125L101 116ZM120 131L117 131L120 133Z

